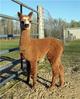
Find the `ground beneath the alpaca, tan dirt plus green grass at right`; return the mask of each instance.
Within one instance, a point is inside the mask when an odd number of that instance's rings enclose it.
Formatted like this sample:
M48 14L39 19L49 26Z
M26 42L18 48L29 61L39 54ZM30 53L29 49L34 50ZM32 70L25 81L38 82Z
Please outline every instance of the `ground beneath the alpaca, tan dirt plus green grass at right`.
M24 82L26 76L21 74L17 80L0 87L1 99L80 99L80 41L65 45L62 62L65 70L64 87L47 88L51 83L51 66L45 61L38 64L35 90Z

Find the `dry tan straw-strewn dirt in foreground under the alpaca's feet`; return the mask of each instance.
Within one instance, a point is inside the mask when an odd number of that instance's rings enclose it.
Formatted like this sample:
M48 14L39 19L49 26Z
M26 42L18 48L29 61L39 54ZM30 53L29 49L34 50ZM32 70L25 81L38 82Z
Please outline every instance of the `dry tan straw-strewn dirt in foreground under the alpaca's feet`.
M78 71L73 73L72 71L72 68L65 68L65 85L63 88L54 87L49 90L47 86L51 82L51 72L40 69L35 90L26 83L19 81L3 93L1 99L80 99L80 73Z

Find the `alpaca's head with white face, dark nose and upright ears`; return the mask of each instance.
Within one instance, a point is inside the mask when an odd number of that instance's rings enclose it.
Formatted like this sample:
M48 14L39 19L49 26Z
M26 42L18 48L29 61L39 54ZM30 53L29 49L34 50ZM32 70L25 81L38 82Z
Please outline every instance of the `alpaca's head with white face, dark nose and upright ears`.
M18 17L20 20L20 26L21 26L22 30L31 28L32 14L33 14L33 12L30 12L28 15L23 15L20 12L18 12Z

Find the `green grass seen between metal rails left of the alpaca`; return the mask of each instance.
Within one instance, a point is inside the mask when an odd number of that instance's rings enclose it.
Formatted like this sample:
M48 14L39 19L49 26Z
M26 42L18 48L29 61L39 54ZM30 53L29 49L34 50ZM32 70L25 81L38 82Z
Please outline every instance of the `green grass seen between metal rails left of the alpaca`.
M0 40L0 51L7 50L11 48L17 48L19 47L19 39L12 39L12 40ZM5 65L6 63L10 62L11 59L17 59L19 58L19 51L14 51L10 53L6 53L1 55L6 61L0 62L0 66Z

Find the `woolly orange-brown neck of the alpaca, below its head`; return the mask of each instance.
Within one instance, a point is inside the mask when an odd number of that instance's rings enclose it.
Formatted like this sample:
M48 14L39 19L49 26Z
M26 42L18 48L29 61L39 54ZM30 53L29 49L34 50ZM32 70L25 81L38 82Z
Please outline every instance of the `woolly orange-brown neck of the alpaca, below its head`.
M22 30L20 38L20 47L25 48L30 45L30 29Z

